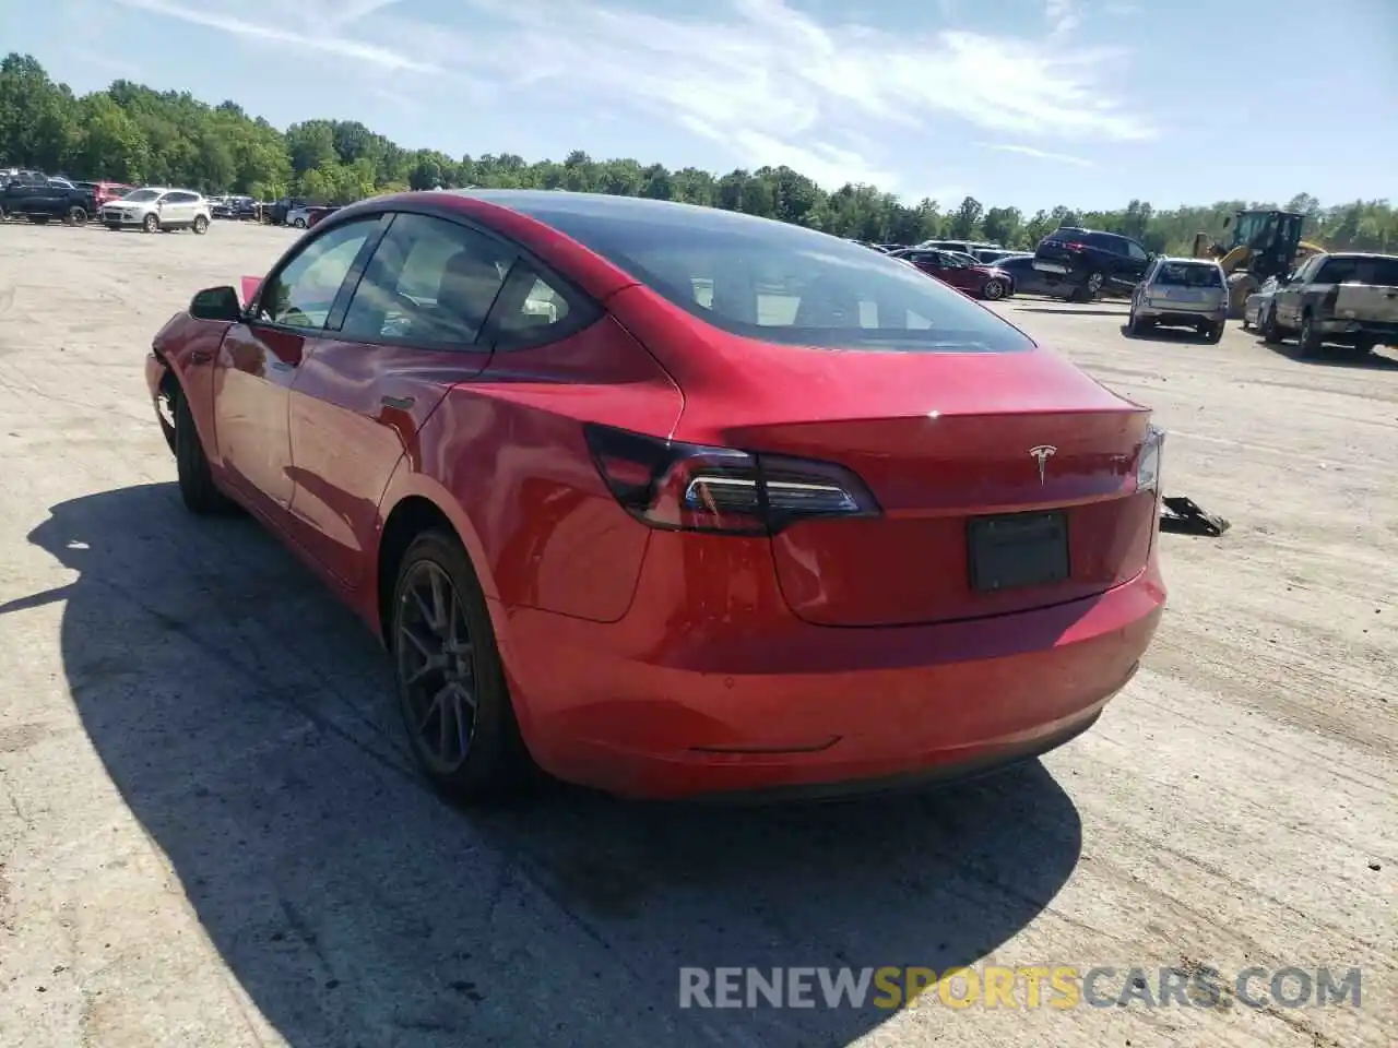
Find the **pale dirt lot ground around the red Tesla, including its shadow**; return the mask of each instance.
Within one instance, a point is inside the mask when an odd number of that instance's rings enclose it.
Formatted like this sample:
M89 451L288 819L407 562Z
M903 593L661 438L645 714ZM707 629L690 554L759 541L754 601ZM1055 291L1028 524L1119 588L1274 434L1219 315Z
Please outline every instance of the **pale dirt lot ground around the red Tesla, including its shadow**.
M0 226L0 1044L1398 1044L1392 359L1004 303L1233 521L1162 538L1169 612L1093 731L925 796L460 813L350 615L183 513L145 398L161 323L291 240ZM681 966L842 964L1328 966L1362 1002L677 1005Z

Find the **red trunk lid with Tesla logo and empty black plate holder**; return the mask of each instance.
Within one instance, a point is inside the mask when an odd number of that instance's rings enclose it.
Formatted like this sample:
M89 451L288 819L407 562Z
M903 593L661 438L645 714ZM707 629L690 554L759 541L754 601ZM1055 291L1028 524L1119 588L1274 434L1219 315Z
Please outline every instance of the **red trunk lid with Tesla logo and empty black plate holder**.
M793 351L774 352L790 380ZM811 370L819 380L786 398L794 408L780 421L770 401L752 422L730 401L724 443L843 465L882 509L802 521L772 539L800 618L895 626L1021 612L1099 594L1145 567L1156 496L1137 492L1135 465L1149 409L1043 349L794 352L823 358ZM765 381L766 361L749 363ZM1040 570L1055 545L1065 563Z

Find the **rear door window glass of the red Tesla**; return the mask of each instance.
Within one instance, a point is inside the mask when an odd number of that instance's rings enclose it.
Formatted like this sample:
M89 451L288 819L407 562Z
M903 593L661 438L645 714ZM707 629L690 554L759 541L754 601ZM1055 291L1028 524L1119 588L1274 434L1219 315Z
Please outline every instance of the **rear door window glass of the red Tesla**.
M471 347L514 253L482 233L400 214L350 300L341 331L362 342Z

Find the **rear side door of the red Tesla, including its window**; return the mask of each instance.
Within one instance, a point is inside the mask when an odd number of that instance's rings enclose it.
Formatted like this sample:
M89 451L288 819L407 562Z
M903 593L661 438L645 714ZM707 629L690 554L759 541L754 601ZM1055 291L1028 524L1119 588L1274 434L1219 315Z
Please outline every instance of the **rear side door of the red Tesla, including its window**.
M487 314L516 249L464 222L391 217L338 330L320 340L291 394L292 527L347 590L372 584L379 500L447 388L491 358Z

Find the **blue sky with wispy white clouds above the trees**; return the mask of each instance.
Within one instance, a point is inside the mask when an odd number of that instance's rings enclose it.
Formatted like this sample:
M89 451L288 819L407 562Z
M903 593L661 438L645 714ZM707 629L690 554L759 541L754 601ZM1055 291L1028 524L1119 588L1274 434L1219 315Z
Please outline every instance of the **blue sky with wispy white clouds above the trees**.
M0 0L0 48L408 148L1026 211L1398 198L1398 0Z

